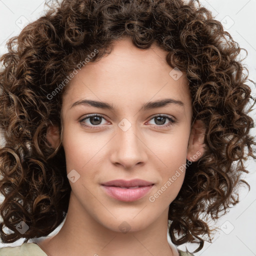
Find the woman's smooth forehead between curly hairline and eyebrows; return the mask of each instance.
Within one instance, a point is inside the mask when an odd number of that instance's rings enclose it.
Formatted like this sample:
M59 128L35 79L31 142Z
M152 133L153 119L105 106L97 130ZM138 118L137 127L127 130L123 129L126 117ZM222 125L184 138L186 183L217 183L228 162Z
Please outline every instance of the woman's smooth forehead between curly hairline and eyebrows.
M184 73L177 73L168 65L167 53L155 43L148 49L140 49L128 38L115 41L110 54L78 70L67 85L63 107L70 108L81 98L126 106L166 97L190 102L188 80ZM178 79L173 78L173 72Z

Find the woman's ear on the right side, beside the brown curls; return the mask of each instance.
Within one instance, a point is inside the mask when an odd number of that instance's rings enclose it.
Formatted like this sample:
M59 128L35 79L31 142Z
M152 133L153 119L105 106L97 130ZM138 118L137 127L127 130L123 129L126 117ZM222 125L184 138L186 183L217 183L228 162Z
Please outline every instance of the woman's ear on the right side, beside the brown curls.
M205 125L201 120L195 120L190 131L186 159L197 161L205 151Z

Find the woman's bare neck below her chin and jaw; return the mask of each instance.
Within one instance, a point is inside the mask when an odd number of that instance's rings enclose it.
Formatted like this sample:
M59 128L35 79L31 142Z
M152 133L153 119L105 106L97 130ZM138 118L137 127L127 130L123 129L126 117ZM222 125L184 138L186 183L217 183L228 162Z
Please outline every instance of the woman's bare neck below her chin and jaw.
M71 192L63 226L38 245L48 256L175 256L167 241L167 210L142 230L117 232L90 216Z

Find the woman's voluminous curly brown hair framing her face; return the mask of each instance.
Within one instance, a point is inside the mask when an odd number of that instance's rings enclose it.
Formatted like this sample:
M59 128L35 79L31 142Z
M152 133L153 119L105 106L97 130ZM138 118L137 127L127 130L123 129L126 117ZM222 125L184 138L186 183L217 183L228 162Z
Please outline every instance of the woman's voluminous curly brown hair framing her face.
M56 150L51 147L46 130L50 124L61 130L68 85L50 99L47 95L95 48L90 61L109 54L111 43L122 36L138 48L156 42L168 52L167 63L189 80L192 120L206 127L206 151L187 164L182 187L169 205L172 242L199 242L201 249L212 231L202 215L217 219L238 202L236 188L246 183L241 174L248 172L244 162L248 156L256 159L248 115L256 99L246 84L255 82L237 59L243 48L198 0L63 0L10 38L0 58L4 243L46 236L64 219L71 189L64 150L61 142ZM21 220L29 226L23 234L15 228ZM13 232L6 234L4 225Z

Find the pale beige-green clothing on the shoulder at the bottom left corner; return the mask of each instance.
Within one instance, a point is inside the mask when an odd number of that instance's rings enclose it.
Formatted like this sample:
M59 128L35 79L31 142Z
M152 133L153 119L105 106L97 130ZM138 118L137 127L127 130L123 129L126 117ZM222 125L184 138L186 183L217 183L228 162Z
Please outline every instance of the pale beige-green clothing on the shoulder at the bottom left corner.
M4 256L47 256L35 243L26 243L19 246L5 246L0 248L0 255Z

